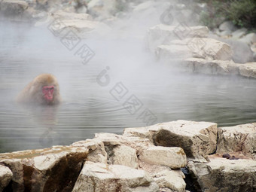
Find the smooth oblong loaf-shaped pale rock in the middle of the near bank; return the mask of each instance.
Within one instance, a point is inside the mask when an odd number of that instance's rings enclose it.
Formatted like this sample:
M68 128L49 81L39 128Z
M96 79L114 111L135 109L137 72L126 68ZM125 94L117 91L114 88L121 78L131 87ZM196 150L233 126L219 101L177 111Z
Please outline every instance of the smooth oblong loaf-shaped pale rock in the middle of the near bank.
M154 146L142 151L139 159L154 165L169 166L178 169L186 166L187 157L182 148Z

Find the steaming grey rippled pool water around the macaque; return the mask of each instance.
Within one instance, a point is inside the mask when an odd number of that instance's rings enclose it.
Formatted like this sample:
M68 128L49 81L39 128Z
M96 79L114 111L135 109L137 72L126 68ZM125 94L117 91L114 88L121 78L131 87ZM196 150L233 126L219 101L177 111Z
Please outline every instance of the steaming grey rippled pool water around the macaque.
M0 152L178 119L219 126L256 121L256 81L172 72L138 38L81 40L96 53L83 65L75 55L80 45L68 50L48 29L22 23L0 23L0 29ZM62 104L17 105L17 93L41 73L58 78Z

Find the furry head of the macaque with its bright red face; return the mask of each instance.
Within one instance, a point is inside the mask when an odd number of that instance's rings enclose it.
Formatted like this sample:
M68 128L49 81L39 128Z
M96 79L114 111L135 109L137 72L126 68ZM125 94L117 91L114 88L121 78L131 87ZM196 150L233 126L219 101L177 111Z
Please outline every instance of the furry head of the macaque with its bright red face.
M35 102L47 105L59 102L59 84L53 75L39 75L34 79L30 91L35 96Z

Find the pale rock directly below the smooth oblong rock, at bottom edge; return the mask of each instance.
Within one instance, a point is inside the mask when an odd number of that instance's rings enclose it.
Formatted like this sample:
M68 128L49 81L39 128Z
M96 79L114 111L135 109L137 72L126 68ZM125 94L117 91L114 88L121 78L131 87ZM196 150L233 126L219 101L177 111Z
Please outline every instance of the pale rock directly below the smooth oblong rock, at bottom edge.
M180 170L164 170L161 172L157 172L156 174L152 175L154 181L160 187L160 191L168 191L164 189L169 189L169 191L180 191L184 192L186 183L184 181L184 175L180 173Z

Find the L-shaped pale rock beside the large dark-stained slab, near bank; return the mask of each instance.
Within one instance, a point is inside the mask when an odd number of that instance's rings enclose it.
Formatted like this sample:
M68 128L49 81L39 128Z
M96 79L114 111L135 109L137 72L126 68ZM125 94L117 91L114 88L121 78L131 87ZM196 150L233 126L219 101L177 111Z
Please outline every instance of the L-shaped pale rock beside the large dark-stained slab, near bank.
M89 154L86 158L88 161L95 163L107 163L108 155L105 151L105 146L100 139L87 139L72 144L76 147L85 147L89 149Z

